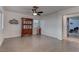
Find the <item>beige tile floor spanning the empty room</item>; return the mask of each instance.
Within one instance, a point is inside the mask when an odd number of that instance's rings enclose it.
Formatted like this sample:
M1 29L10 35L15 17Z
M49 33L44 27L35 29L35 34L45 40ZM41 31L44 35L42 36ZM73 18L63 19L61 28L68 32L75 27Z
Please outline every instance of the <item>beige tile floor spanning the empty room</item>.
M0 52L78 52L79 43L48 36L28 36L5 39Z

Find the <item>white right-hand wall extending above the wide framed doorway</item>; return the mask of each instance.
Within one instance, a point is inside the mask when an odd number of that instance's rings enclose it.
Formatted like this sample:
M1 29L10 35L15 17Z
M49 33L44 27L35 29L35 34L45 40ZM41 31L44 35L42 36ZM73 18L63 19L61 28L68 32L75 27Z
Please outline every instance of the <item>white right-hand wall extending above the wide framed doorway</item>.
M66 9L54 14L42 17L42 34L62 40L62 19L64 15L79 13L79 7Z

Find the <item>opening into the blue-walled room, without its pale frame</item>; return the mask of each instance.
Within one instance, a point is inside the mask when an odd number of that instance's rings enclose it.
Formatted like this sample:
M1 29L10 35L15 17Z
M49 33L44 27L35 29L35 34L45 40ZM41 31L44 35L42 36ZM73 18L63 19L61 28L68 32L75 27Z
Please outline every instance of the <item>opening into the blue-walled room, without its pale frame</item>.
M79 39L79 16L69 17L68 37Z

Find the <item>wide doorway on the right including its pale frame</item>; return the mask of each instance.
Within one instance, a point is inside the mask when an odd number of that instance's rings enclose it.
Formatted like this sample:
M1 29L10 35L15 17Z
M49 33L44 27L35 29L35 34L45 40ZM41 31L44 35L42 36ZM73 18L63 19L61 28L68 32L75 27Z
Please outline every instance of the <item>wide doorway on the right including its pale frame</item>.
M63 39L79 42L79 14L63 16Z

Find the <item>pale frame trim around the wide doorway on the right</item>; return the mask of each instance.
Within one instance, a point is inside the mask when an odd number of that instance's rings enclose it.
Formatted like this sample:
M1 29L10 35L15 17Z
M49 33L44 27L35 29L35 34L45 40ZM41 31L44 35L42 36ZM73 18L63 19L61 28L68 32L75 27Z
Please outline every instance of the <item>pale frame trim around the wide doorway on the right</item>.
M63 15L62 19L62 39L68 39L67 36L67 18L69 17L74 17L74 16L79 16L79 13L72 13L72 14L67 14Z

